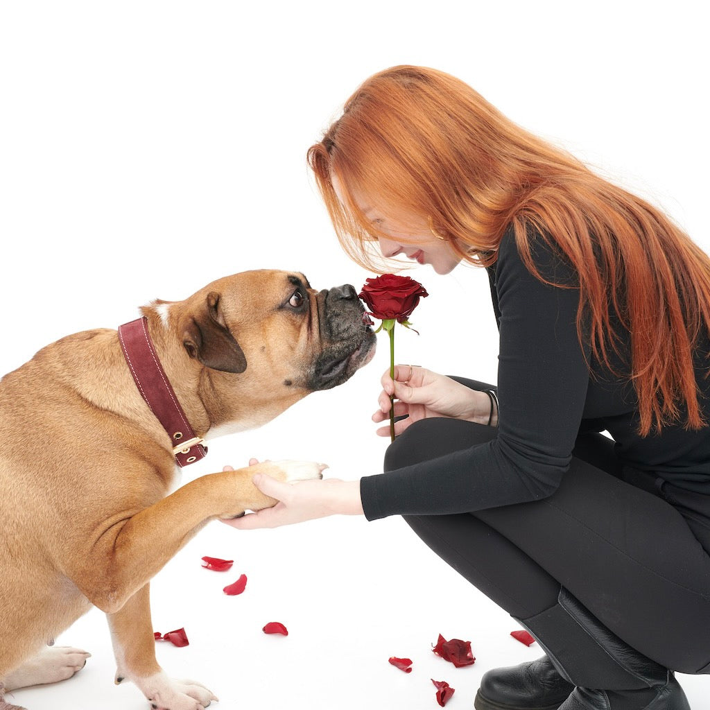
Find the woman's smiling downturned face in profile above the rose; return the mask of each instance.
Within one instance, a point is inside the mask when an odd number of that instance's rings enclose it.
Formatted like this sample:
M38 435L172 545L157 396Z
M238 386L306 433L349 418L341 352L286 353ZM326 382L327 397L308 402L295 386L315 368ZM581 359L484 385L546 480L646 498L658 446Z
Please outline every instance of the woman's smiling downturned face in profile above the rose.
M335 194L342 204L346 204L342 185L332 176ZM420 264L430 264L436 273L454 271L461 257L451 248L449 239L438 239L425 219L415 214L397 212L382 214L379 209L368 204L366 197L354 193L354 202L371 224L386 236L378 236L382 256L392 258L404 254L408 259Z

